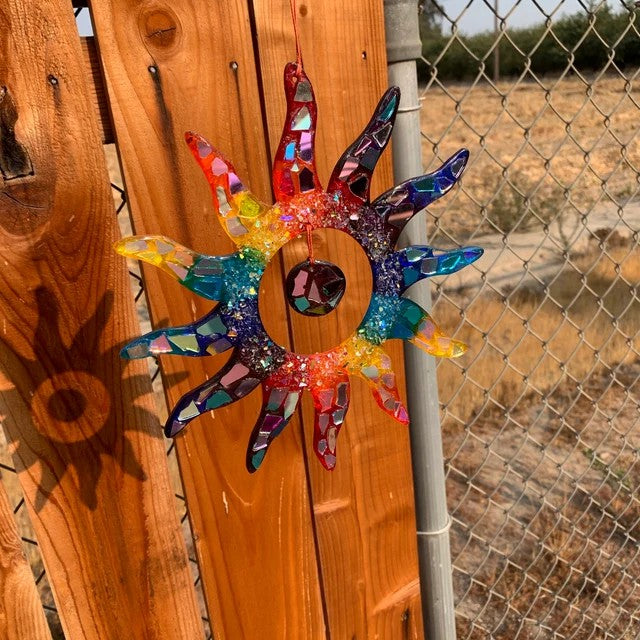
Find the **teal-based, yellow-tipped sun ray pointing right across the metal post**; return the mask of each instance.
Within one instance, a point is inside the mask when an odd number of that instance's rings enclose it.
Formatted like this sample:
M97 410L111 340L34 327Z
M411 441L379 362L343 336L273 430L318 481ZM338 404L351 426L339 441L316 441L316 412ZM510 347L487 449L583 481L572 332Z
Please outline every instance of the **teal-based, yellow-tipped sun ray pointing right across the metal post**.
M390 337L408 340L416 347L439 358L457 358L467 350L464 342L442 333L433 318L419 304L408 298L401 299Z

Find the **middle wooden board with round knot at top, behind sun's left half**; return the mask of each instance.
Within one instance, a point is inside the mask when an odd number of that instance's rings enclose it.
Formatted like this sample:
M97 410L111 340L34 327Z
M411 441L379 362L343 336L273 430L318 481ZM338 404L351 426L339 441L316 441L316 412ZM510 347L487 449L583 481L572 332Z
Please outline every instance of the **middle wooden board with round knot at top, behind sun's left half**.
M109 0L94 2L92 14L136 232L229 253L183 132L208 137L270 199L246 3ZM268 280L260 292L267 300L281 287L278 268ZM145 282L155 325L190 322L211 308L153 270L145 270ZM283 302L263 308L273 337L286 343ZM164 358L165 374L188 371L168 391L169 402L222 362ZM199 418L178 437L205 594L217 637L315 639L324 635L324 620L299 426L250 476L245 454L259 395Z

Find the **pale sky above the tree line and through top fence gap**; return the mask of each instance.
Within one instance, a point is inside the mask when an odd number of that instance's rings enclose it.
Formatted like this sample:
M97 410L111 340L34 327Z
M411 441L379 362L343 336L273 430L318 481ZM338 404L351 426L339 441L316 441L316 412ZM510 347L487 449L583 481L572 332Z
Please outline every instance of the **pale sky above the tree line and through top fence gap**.
M286 2L287 0L282 0ZM321 0L311 0L320 2ZM462 17L458 21L458 28L462 33L471 35L480 31L493 29L493 12L487 2L493 6L496 0L439 0L440 6L447 12L451 19L457 18L463 9L468 5ZM533 0L497 0L498 13L507 17L507 28L524 27L531 24L543 22L545 17L536 7ZM537 4L547 13L557 8L554 17L584 11L578 0L536 0ZM515 8L514 8L515 7ZM85 9L78 17L78 28L81 35L91 35L91 24L89 22L89 12ZM450 23L443 22L443 31L450 30Z

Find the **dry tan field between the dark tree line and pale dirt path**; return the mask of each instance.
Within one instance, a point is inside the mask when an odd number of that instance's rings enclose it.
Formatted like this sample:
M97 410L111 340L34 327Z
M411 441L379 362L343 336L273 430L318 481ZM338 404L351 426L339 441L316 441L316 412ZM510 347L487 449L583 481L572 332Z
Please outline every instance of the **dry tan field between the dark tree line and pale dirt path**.
M431 209L442 232L462 239L478 229L522 229L637 194L640 100L631 82L607 76L589 86L571 77L545 85L424 91L425 166L435 167L434 153L471 152L462 189Z

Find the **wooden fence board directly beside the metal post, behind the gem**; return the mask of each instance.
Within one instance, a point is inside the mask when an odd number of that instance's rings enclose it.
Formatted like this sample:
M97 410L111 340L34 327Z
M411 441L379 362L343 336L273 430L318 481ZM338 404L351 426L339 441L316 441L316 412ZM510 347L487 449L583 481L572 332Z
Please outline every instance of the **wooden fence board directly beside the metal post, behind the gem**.
M288 2L253 4L270 146L275 150L284 115L282 69L295 58L293 30ZM299 2L298 21L305 68L319 105L317 159L326 184L333 165L368 122L387 86L382 2ZM374 193L392 183L389 153L378 164ZM368 262L350 238L338 232L317 233L315 244L318 257L338 264L347 281L358 286L347 291L322 324L292 314L293 342L305 353L346 338L364 315L371 291ZM286 268L305 257L303 240L284 249ZM386 349L402 378L401 346L391 343ZM304 422L332 637L422 637L406 427L387 418L365 385L356 382L338 442L338 464L329 473L312 453L310 402Z

